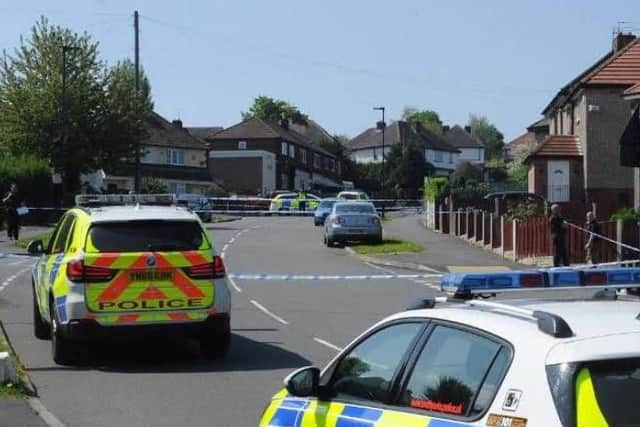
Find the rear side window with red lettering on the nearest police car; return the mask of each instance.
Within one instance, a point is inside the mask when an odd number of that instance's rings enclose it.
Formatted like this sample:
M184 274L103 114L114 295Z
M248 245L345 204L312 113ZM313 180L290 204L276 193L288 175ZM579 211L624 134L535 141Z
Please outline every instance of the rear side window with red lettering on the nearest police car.
M437 425L487 425L487 412L511 356L511 346L493 336L433 322L426 344L407 369L394 406L428 417L432 423L438 420Z

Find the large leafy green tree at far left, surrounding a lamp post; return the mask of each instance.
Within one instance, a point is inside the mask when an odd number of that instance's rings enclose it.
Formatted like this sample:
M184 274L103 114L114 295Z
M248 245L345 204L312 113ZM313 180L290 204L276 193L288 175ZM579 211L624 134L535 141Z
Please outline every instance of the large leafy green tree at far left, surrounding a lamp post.
M43 17L0 62L0 140L14 154L49 159L71 193L79 190L81 173L104 165L103 157L127 157L131 139L120 137L138 132L147 100L132 107L130 63L108 71L88 34ZM138 111L133 119L132 111Z

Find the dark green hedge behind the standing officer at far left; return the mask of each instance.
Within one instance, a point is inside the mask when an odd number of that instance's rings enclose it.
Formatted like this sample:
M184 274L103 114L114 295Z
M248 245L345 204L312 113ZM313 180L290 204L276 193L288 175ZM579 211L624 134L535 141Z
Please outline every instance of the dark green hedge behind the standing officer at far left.
M7 194L12 182L18 185L20 201L28 206L53 205L53 183L46 160L33 156L11 156L3 153L0 158L0 195L2 197ZM41 213L30 213L29 218L25 218L25 220L33 221ZM0 226L4 224L5 215L3 207L0 209Z

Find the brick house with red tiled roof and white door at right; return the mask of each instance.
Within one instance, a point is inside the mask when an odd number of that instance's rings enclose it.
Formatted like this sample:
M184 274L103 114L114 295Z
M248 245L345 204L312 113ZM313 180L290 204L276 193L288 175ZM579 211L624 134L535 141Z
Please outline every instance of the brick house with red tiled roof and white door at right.
M629 118L623 93L640 80L640 42L617 34L612 50L558 91L543 115L547 136L529 156L529 190L608 217L632 203L633 179L617 147Z

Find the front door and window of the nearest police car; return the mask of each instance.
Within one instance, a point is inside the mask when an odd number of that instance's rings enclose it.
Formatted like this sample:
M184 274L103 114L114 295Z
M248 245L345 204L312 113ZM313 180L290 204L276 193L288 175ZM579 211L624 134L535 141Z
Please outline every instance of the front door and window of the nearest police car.
M326 382L328 398L285 397L267 425L379 427L384 408L393 399L403 362L424 330L422 321L405 321L368 334L326 370L322 382ZM414 418L421 421L420 417Z

